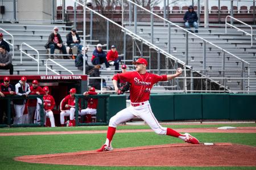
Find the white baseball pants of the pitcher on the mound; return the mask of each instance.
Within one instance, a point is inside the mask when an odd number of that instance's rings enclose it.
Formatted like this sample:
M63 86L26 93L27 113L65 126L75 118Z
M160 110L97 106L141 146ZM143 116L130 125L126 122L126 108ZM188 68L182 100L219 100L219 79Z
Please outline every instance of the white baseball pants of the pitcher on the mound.
M166 135L167 128L162 127L159 124L158 120L156 120L151 110L150 103L148 101L144 101L142 103L143 105L138 105L136 107L133 107L131 105L130 107L127 107L122 111L118 112L117 114L115 114L115 116L110 118L109 126L116 128L118 124L128 121L131 118L138 117L142 118L142 120L144 120L148 124L148 126L150 126L150 128L155 131L156 134Z

